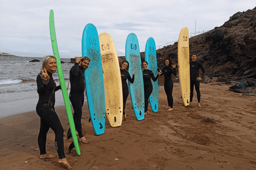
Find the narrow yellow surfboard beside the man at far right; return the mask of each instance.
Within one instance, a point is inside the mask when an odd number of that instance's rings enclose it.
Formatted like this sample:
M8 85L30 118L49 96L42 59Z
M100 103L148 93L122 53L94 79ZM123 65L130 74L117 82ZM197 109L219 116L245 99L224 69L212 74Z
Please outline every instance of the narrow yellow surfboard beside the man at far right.
M189 105L190 99L190 65L189 65L189 42L188 28L183 27L178 41L178 65L180 88L185 106Z

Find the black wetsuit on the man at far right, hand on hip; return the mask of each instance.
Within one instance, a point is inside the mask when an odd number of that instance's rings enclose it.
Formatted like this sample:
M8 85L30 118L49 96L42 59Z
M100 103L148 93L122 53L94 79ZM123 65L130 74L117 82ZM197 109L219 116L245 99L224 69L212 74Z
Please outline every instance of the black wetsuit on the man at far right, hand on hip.
M200 93L200 81L197 81L197 77L199 77L199 69L202 70L201 78L204 78L205 70L201 63L198 61L190 62L190 102L193 100L194 95L194 86L197 92L197 100L200 103L201 93Z

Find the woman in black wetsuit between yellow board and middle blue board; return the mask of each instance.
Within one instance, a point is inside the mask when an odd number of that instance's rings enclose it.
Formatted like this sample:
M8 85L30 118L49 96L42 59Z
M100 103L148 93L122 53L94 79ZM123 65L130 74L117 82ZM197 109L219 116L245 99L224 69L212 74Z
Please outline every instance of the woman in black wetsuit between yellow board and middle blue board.
M130 83L134 82L134 75L135 72L132 72L132 78L128 72L129 69L129 62L128 61L123 61L121 68L120 68L120 73L121 73L121 79L122 79L122 87L123 87L123 115L125 116L124 121L126 121L126 112L125 112L125 104L127 97L129 95L129 88L126 80L128 79Z

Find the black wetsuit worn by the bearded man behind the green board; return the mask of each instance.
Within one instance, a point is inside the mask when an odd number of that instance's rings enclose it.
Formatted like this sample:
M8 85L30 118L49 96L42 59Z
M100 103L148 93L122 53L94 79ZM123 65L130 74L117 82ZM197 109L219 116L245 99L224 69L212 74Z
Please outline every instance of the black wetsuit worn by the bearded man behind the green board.
M74 123L76 130L78 132L79 138L83 137L82 133L82 107L84 103L84 90L85 90L85 82L84 82L84 69L79 66L79 63L75 63L70 69L69 72L70 79L70 93L69 99L73 106L74 110Z

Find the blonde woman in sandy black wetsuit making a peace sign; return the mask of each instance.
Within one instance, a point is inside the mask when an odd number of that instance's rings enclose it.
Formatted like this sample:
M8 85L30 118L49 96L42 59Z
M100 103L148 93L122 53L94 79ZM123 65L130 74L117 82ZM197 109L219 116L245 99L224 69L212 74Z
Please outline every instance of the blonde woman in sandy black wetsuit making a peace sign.
M54 155L46 153L46 134L51 127L55 133L55 147L58 152L58 163L63 164L68 169L69 165L64 153L63 127L60 123L57 113L54 110L55 91L61 89L52 78L52 74L56 71L56 58L54 56L45 56L41 72L36 78L37 93L39 100L36 105L36 112L40 116L40 131L38 135L38 145L40 149L40 159L53 158Z

